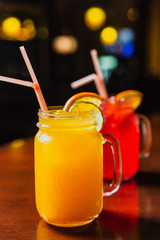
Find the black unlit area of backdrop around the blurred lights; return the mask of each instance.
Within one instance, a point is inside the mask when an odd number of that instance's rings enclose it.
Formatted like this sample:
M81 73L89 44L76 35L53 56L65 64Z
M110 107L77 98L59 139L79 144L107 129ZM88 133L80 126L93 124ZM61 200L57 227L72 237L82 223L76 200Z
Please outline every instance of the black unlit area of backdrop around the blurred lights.
M144 94L137 111L148 116L160 112L160 1L159 0L50 0L1 1L0 21L7 16L21 21L30 18L36 30L45 26L48 36L28 41L4 39L0 35L0 75L31 81L19 47L24 45L39 80L47 105L63 105L73 94L96 92L94 83L76 90L70 83L95 72L90 50L107 54L99 40L102 29L92 31L84 23L85 11L102 7L107 14L104 25L117 30L125 27L135 33L134 54L117 55L118 67L107 83L109 94L136 89ZM127 11L136 8L138 19L130 21ZM52 43L56 36L72 35L78 49L72 54L59 54ZM31 88L0 82L0 144L29 137L37 132L39 105Z

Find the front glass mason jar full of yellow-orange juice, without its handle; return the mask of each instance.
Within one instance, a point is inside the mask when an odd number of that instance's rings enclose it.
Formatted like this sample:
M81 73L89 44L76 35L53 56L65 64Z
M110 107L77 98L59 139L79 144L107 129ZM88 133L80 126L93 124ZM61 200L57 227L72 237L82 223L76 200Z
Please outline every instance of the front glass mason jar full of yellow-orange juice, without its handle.
M103 207L103 137L96 130L94 112L40 110L37 126L35 192L40 216L67 227L94 220Z

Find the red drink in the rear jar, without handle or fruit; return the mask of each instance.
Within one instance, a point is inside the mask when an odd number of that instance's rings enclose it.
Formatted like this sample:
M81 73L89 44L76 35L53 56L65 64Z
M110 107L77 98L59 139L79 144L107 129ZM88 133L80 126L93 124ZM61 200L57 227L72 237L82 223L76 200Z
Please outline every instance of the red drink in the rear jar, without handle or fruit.
M122 154L122 180L131 178L139 167L140 130L139 118L134 113L131 102L115 97L105 99L100 106L104 115L103 134L111 134L119 141ZM105 144L104 178L113 177L114 166L111 149Z

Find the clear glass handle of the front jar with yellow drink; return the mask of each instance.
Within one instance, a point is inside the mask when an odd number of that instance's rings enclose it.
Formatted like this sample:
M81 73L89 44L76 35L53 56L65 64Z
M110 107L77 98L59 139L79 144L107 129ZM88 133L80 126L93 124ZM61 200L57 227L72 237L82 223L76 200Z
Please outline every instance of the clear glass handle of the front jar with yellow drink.
M103 196L110 196L119 189L121 184L122 157L121 157L121 150L120 150L120 145L118 140L110 134L103 134L103 137L104 137L103 144L108 143L111 147L113 161L114 161L114 175L113 175L112 182L105 185L103 188ZM118 168L118 171L117 171L117 168Z

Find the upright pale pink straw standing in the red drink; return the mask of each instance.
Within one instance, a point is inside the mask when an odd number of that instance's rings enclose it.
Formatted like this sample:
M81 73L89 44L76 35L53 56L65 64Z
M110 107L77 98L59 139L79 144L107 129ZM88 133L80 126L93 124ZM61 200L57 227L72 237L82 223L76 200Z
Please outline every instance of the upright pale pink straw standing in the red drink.
M107 88L106 85L104 83L104 79L103 79L103 74L99 65L99 61L98 61L98 54L97 51L95 49L92 49L90 51L91 57L92 57L92 61L93 61L93 65L95 68L95 72L97 73L97 77L98 80L96 81L98 90L99 90L99 94L103 97L103 98L108 98L108 92L107 92Z

